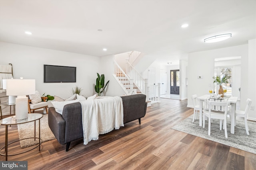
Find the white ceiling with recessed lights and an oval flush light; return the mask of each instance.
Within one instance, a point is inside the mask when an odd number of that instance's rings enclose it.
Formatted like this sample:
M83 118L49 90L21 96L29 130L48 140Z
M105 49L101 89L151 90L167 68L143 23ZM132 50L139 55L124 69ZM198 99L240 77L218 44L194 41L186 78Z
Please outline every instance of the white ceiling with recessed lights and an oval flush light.
M92 56L140 51L167 65L255 38L256 0L0 0L0 41Z

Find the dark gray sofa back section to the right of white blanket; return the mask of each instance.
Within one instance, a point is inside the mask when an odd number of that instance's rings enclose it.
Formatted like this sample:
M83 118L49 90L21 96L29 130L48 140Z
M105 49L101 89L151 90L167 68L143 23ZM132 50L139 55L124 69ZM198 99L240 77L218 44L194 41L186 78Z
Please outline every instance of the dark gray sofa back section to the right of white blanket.
M124 123L144 117L146 114L146 95L121 96L124 106Z

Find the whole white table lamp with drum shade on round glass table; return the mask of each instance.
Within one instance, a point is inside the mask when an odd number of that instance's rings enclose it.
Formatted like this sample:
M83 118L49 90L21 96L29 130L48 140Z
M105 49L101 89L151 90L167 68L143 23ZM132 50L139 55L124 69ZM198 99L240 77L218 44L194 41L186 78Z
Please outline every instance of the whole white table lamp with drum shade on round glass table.
M16 120L28 118L28 97L36 93L36 80L6 79L6 95L17 96Z

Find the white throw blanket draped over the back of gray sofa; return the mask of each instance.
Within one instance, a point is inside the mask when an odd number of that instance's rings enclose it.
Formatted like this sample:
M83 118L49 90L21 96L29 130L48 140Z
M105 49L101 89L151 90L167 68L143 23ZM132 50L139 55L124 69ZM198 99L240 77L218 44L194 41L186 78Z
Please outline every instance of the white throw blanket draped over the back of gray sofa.
M98 140L99 134L119 129L124 126L124 110L122 98L115 96L86 100L82 105L82 124L84 145L91 140Z

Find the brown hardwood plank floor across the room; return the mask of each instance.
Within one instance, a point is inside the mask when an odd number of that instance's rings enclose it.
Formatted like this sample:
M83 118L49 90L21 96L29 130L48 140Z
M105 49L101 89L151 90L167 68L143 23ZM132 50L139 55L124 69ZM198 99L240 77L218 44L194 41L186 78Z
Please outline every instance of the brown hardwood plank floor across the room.
M29 170L255 170L256 154L171 129L193 113L186 107L187 100L160 101L147 108L141 125L138 120L126 123L88 145L79 139L71 142L68 152L55 139L42 143L41 151L8 156L8 160L27 160ZM8 141L18 140L17 126L8 128ZM1 148L4 139L1 125ZM19 143L9 149L9 153L21 150Z

